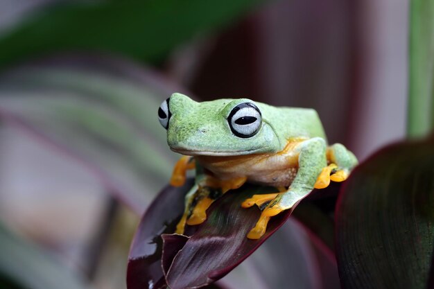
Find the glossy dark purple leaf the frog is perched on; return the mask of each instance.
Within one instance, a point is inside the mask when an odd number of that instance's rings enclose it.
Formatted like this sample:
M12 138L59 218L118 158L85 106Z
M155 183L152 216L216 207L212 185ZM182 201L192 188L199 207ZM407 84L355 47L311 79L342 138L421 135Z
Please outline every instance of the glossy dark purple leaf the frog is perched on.
M171 233L182 215L187 187L167 187L146 211L131 247L129 289L163 288L166 282L172 289L206 286L224 277L252 254L292 212L288 210L272 218L261 239L248 239L246 235L261 212L257 207L243 209L241 203L254 194L270 193L275 189L247 185L216 200L207 210L208 218L204 223L187 226L190 238L174 235ZM336 191L336 187L333 188ZM314 192L309 197L313 202L322 200L322 193L328 196L327 190ZM148 287L148 284L154 287Z

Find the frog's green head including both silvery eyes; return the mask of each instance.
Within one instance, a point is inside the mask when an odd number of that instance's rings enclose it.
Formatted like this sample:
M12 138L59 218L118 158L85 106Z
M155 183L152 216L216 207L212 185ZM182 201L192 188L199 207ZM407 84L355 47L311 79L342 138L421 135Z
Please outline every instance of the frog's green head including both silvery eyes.
M279 140L260 110L247 98L198 103L173 94L158 110L171 150L182 155L250 155L275 152Z

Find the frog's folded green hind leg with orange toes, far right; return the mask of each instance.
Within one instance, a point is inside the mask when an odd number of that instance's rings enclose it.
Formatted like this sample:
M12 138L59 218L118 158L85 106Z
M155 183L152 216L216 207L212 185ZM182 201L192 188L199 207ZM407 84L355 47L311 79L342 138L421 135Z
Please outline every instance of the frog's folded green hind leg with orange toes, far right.
M333 182L343 182L348 178L349 172L358 163L352 152L340 143L335 143L327 148L327 159L336 168L331 171L330 179Z

